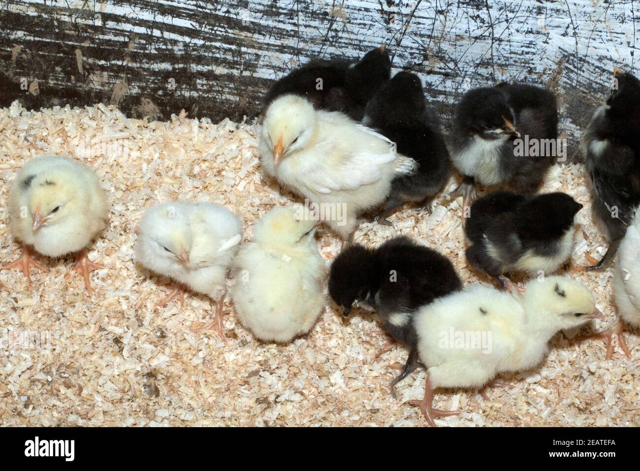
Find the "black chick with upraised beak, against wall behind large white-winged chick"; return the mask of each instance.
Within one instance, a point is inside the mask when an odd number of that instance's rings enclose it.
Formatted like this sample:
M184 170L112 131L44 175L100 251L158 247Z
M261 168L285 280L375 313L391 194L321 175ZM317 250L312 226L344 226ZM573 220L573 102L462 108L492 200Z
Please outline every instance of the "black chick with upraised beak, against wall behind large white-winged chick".
M264 105L266 108L280 95L298 94L310 100L316 109L342 112L359 121L367 102L389 79L390 72L391 61L385 46L372 49L357 62L312 60L276 81L269 88Z

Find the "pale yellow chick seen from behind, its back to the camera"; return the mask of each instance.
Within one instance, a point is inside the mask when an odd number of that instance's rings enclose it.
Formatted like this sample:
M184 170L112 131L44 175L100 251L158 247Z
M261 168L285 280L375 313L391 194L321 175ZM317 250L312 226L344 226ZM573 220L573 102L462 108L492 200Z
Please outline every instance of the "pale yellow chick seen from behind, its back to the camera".
M325 265L301 205L269 211L234 261L230 290L236 317L264 342L307 333L324 310Z

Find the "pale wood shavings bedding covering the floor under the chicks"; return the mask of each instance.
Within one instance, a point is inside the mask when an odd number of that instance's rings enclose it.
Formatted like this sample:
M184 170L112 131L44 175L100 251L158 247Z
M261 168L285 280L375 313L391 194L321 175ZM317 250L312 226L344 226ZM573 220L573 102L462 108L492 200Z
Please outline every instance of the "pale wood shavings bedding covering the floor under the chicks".
M228 344L201 327L212 321L212 302L187 296L154 310L166 279L134 264L132 246L145 208L157 201L187 199L227 205L251 227L275 204L294 195L266 180L257 159L257 125L223 120L168 122L127 119L112 107L0 110L0 263L17 256L8 231L10 183L27 158L70 154L97 171L111 198L108 227L89 247L107 268L92 274L89 297L79 277L65 280L72 264L48 260L48 272L32 271L33 291L22 274L0 272L0 424L2 426L424 426L419 409L407 404L424 394L424 370L396 388L390 363L406 350L374 359L386 342L372 315L343 320L329 305L310 334L289 345L259 343L234 315L225 317ZM447 190L454 186L454 178ZM577 215L572 263L600 258L606 247L591 217L591 197L581 165L556 165L543 191L561 190L584 204ZM433 215L405 208L395 227L363 222L356 241L377 245L405 234L436 247L454 262L465 284L489 284L470 271L464 256L461 208L442 192ZM318 236L330 265L342 242L328 231ZM616 322L612 269L577 275ZM232 310L232 306L227 307ZM44 333L40 348L6 345L11 335ZM46 337L48 335L48 337ZM577 333L567 333L575 336ZM458 417L436 420L449 426L630 426L640 424L637 408L640 343L627 360L616 349L605 361L603 342L574 342L558 335L548 358L531 372L502 377L513 388L491 390L489 401L469 390L438 391L434 406L461 408ZM4 340L4 342L1 342Z

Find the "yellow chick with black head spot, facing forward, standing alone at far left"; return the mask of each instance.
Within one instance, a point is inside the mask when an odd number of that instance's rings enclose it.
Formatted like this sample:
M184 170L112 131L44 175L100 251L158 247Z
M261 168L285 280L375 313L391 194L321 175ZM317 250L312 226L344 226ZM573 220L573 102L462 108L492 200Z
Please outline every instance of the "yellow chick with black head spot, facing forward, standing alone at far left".
M28 160L9 194L11 233L24 249L3 269L22 269L31 286L30 267L44 267L32 258L30 246L48 257L77 252L74 270L83 275L91 292L89 274L102 267L92 263L84 249L104 229L108 213L106 194L87 165L56 155Z

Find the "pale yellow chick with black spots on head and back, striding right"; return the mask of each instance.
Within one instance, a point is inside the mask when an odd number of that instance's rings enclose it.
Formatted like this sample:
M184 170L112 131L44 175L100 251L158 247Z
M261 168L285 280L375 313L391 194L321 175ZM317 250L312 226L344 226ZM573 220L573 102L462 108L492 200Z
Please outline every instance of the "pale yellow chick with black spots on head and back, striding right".
M434 409L433 390L479 388L500 373L529 370L545 358L556 333L593 318L604 318L593 295L563 276L531 280L522 296L477 284L436 299L415 315L427 376L424 399L410 404L433 427L436 417L460 413Z

